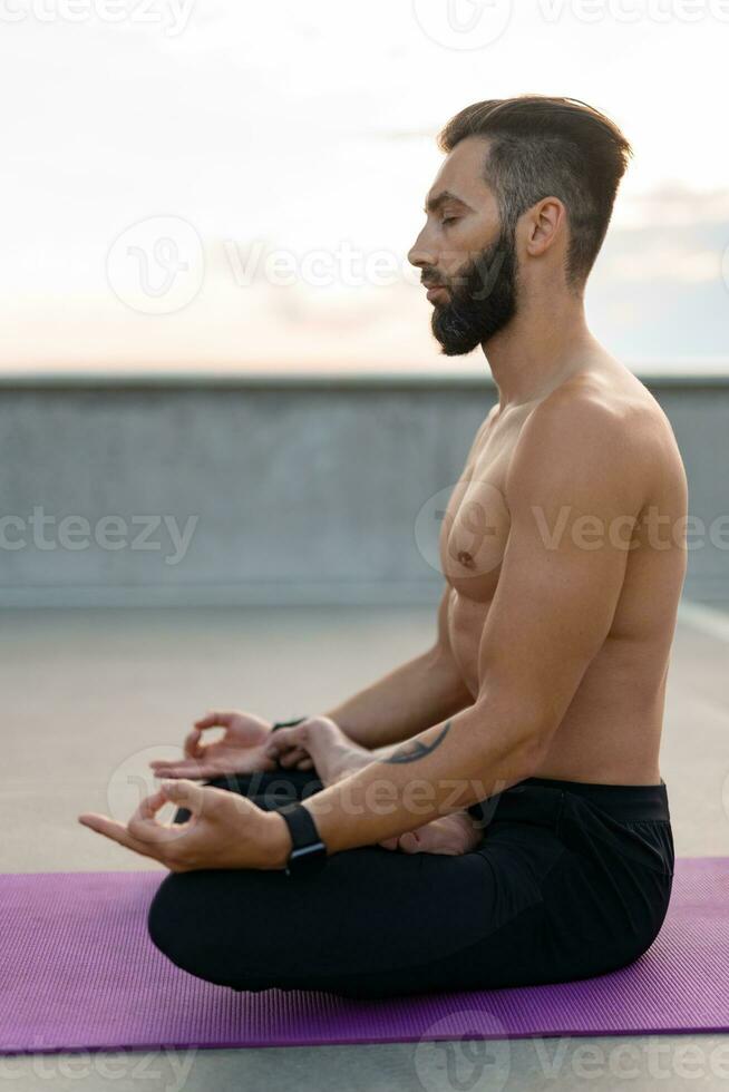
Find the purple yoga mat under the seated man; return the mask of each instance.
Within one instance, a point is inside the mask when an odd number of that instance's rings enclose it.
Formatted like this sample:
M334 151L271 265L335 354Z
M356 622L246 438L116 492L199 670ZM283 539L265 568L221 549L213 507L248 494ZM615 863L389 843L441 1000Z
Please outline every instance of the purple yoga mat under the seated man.
M383 1001L179 971L146 933L164 875L0 875L0 1053L729 1031L729 858L675 861L663 928L621 971Z

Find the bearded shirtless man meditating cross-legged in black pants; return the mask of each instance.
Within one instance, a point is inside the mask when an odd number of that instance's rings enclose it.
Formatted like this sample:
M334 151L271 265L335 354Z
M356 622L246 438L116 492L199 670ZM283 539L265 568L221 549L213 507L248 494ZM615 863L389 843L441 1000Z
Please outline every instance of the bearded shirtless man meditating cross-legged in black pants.
M583 309L630 147L543 96L474 104L439 146L409 259L444 353L480 345L498 403L444 519L432 647L273 735L213 712L126 826L80 817L167 865L152 939L236 989L581 978L645 952L668 908L659 745L687 482L665 416Z

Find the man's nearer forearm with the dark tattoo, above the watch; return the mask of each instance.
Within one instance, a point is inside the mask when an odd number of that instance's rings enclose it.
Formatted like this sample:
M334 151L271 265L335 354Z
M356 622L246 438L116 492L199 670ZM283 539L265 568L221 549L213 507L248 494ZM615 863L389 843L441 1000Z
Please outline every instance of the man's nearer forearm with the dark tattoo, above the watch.
M329 854L369 846L459 811L533 774L534 733L514 719L488 719L475 704L370 762L302 803ZM282 835L278 858L290 839Z

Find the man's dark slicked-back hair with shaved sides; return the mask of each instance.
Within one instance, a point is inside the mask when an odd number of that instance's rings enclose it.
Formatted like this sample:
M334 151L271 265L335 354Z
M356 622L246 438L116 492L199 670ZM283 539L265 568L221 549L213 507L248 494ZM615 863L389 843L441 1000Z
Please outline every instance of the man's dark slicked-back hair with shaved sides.
M618 126L573 98L519 95L474 103L437 137L450 152L469 136L487 137L484 181L494 189L505 230L542 197L567 211L567 282L584 282L602 246L632 148Z

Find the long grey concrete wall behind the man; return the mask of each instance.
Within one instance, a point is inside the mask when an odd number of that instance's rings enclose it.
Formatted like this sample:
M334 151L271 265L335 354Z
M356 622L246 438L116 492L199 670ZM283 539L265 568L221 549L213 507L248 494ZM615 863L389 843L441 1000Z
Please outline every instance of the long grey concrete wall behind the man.
M729 377L643 381L708 530ZM463 377L0 379L0 605L434 601L437 509L494 401ZM729 550L691 552L686 595L729 605Z

